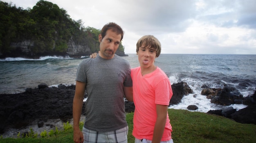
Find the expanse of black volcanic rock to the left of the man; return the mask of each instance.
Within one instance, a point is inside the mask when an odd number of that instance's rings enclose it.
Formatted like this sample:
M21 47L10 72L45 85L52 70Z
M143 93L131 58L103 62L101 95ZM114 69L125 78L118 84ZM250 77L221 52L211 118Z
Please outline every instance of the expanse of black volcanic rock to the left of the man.
M74 91L74 85L49 88L41 84L23 93L0 95L0 133L25 127L36 119L71 119Z

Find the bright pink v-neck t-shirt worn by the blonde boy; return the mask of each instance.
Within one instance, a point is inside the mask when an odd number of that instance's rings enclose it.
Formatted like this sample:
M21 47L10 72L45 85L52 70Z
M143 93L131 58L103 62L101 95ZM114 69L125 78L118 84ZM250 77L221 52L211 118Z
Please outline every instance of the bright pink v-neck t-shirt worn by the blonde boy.
M157 119L156 104L169 105L173 95L171 83L166 74L157 67L152 73L141 75L141 68L131 69L133 101L135 112L132 135L137 139L153 139ZM161 141L171 139L172 127L167 116Z

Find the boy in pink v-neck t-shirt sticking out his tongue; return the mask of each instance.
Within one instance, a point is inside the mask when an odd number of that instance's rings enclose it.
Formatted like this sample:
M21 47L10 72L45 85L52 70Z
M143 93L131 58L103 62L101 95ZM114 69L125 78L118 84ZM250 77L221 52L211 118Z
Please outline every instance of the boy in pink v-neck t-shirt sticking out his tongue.
M131 69L135 143L173 143L167 111L173 95L171 83L154 64L161 53L161 43L153 35L146 35L136 46L140 66Z

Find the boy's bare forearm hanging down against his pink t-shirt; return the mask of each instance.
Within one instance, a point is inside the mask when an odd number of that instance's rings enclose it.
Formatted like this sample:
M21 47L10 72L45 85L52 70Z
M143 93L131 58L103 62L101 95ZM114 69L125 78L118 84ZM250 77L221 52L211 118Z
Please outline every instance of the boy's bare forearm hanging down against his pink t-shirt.
M160 143L162 139L162 136L164 133L164 127L166 124L168 106L157 104L156 109L157 109L157 121L155 122L152 143Z

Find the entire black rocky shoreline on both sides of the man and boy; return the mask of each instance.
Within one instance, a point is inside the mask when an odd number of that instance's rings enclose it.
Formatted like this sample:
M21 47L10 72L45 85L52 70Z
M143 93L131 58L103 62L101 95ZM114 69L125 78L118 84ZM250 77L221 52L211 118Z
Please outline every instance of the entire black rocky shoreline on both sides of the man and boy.
M202 87L203 88L203 87ZM193 91L185 82L172 85L173 97L169 105L180 103L183 96L192 94ZM210 110L209 114L217 114L239 123L256 124L256 92L251 97L243 97L232 88L213 89L203 88L202 95L211 98L212 103L230 105L232 103L244 103L247 108L236 111L235 109ZM17 94L0 95L0 135L17 134L33 130L61 130L63 123L72 123L72 103L75 92L75 85L48 87L46 84L38 85L38 88L27 88L25 92ZM85 97L86 97L85 93ZM196 96L196 95L195 95ZM134 112L133 102L125 101L126 112ZM189 110L196 110L196 105L188 107ZM84 114L84 107L82 117ZM83 120L83 118L81 118ZM7 136L8 137L8 136Z

